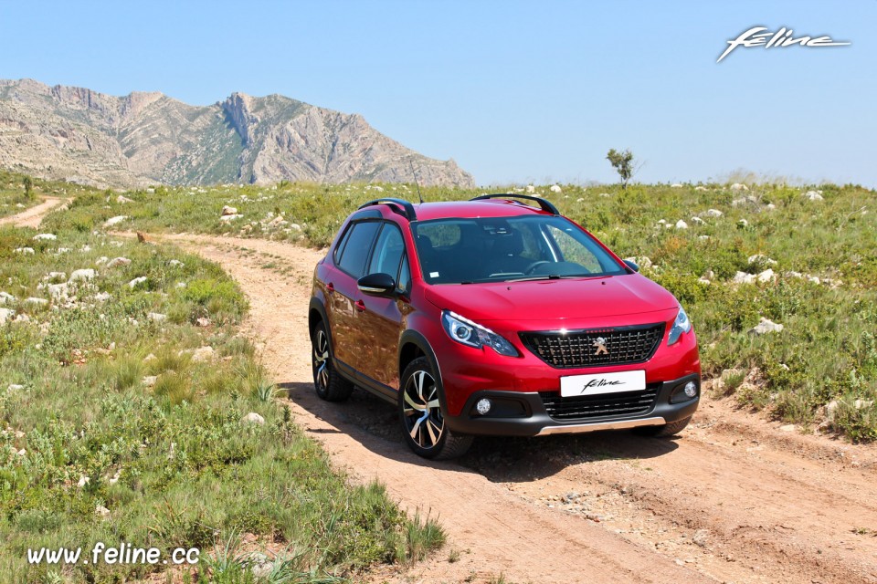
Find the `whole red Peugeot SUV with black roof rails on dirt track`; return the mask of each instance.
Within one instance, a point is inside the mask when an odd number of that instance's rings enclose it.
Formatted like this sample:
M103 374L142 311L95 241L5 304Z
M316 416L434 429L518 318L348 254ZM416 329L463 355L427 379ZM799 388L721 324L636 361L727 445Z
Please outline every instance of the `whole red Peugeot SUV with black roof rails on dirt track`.
M638 269L536 197L365 203L314 272L317 395L356 385L396 404L427 458L477 434L678 433L700 398L697 340Z

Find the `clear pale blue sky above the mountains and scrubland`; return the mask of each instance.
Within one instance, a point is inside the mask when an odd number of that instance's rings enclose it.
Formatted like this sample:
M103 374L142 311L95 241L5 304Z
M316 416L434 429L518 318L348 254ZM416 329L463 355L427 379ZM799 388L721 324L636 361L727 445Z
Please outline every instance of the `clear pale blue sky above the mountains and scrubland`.
M877 0L21 2L0 78L206 105L280 93L359 113L479 184L724 180L877 187ZM737 47L753 26L848 47Z

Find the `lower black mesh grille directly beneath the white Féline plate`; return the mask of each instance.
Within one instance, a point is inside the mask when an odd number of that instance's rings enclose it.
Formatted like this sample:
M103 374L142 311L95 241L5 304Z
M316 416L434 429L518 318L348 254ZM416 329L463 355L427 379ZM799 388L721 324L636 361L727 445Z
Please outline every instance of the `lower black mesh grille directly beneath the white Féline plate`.
M604 416L633 416L648 413L658 397L660 383L650 384L645 391L576 395L561 397L554 391L541 391L539 397L545 412L555 420L582 420Z

